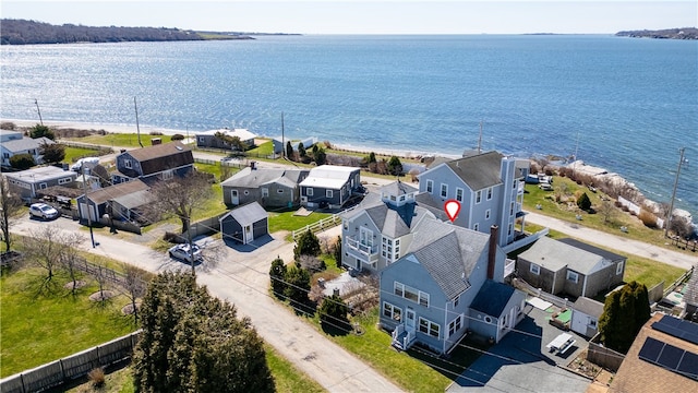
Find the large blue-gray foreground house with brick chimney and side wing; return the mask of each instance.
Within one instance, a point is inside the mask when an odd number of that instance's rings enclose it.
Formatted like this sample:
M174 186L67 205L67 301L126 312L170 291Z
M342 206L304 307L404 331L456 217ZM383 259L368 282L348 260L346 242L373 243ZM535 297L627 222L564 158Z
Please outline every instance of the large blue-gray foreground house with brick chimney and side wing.
M417 226L405 254L380 272L380 324L396 348L419 343L448 354L467 331L500 342L524 319L526 294L502 283L497 229L434 218Z

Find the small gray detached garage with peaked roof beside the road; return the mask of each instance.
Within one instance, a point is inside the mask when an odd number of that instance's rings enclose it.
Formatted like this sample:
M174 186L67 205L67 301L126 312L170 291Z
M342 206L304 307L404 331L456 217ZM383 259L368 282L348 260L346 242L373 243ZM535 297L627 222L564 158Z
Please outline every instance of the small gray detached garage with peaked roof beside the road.
M267 213L257 202L236 207L218 221L226 241L233 240L246 245L269 233Z

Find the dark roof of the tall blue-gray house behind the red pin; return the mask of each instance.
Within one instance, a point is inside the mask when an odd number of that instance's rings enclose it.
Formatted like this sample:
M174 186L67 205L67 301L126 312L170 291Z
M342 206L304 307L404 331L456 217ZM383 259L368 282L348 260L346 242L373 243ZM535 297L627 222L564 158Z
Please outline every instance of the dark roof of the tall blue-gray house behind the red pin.
M447 165L468 187L482 190L502 183L502 158L497 152L454 159Z

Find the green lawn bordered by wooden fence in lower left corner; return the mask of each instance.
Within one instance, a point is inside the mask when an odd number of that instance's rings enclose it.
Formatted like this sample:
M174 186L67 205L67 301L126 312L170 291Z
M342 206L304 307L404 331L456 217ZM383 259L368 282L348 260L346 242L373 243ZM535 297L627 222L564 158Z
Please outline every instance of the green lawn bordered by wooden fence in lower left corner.
M87 349L135 330L133 320L121 314L129 303L117 296L101 307L88 299L98 290L91 284L73 297L62 287L65 276L53 278L52 291L37 295L45 271L23 269L3 273L0 278L2 301L1 377L40 366Z

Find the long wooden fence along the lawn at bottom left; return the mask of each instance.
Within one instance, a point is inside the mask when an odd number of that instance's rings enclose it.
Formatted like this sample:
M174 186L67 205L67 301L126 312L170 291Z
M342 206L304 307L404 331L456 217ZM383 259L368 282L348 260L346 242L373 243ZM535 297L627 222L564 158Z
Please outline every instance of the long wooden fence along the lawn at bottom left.
M141 331L136 331L77 354L3 378L0 380L0 392L40 392L83 377L98 367L107 367L130 359L140 336Z

